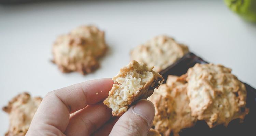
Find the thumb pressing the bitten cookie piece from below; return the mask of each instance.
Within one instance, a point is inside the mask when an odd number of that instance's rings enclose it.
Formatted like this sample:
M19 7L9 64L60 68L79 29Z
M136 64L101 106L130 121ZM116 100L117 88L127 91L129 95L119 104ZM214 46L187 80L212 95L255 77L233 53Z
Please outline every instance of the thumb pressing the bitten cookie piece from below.
M146 136L154 116L153 103L145 99L140 100L119 118L109 136Z

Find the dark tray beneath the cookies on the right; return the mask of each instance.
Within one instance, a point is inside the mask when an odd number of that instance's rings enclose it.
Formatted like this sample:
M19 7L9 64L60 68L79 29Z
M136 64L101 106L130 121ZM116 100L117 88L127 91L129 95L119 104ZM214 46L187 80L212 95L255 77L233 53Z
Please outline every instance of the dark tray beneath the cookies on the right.
M162 70L160 74L166 81L168 75L180 76L185 74L196 63L203 64L208 62L190 52L173 65ZM197 121L194 127L183 129L179 133L180 136L256 136L256 89L246 83L244 84L247 90L246 107L250 108L250 112L246 115L243 123L236 119L231 121L227 127L218 125L214 128L209 128L204 121Z

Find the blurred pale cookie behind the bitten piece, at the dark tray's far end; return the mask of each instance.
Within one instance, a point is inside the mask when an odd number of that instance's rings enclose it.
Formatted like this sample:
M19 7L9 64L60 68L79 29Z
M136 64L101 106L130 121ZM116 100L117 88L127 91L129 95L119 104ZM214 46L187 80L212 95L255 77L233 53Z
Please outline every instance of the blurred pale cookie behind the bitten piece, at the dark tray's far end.
M156 36L145 44L135 47L130 55L131 60L144 62L154 66L154 71L160 72L188 53L188 47L177 43L168 36Z

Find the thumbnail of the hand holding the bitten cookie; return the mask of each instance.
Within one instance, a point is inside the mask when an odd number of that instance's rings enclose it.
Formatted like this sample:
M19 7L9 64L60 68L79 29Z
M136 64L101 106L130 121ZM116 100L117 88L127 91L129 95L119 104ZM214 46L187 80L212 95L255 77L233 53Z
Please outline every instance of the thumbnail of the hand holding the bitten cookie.
M152 102L142 99L133 108L133 113L143 117L148 121L148 124L151 124L155 116L155 107Z

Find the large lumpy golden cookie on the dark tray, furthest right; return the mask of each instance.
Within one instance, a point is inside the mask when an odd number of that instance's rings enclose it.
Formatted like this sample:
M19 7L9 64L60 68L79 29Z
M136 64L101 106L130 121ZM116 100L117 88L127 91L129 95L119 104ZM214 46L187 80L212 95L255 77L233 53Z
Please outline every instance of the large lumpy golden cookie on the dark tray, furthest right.
M187 72L187 94L192 115L210 128L248 114L246 88L231 69L222 65L196 64Z

